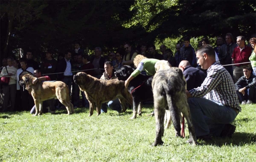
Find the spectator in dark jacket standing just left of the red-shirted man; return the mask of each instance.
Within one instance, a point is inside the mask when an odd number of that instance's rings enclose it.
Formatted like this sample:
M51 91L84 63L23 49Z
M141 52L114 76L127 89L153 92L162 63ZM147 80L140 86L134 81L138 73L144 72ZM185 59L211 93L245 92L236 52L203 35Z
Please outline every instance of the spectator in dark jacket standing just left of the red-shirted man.
M225 69L230 73L231 77L233 78L233 67L232 65L232 53L233 50L236 48L237 44L234 41L233 35L231 33L226 34L226 43L223 44L220 48L220 52L218 54L219 61L221 65L228 65L224 66Z

